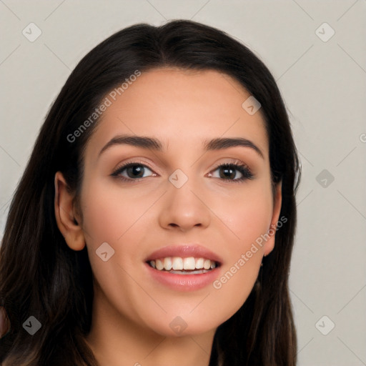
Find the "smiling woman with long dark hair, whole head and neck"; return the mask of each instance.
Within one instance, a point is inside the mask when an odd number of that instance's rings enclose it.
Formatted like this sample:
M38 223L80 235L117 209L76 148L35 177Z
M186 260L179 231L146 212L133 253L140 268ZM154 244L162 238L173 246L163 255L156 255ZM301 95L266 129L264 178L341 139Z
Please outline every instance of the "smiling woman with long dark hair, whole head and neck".
M296 364L299 172L277 85L193 21L80 61L0 249L2 365Z

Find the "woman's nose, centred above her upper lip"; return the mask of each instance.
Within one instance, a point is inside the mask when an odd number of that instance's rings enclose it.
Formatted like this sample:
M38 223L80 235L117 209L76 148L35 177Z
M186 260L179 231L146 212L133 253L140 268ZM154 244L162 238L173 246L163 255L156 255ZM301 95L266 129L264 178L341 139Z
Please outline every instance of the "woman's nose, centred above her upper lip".
M193 184L193 179L180 188L170 182L167 183L168 192L164 199L159 214L159 224L164 229L180 229L187 232L193 227L208 227L211 221L211 211L207 195Z

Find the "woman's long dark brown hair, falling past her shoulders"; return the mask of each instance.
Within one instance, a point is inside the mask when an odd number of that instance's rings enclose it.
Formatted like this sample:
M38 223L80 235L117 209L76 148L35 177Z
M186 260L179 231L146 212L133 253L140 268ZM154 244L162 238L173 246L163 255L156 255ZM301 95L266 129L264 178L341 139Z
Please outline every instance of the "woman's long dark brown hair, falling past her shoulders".
M272 74L246 46L212 27L179 20L129 26L102 41L81 59L51 106L11 201L0 248L0 306L11 324L0 339L6 366L98 365L84 341L93 299L89 258L86 247L69 249L56 225L54 175L61 171L77 196L84 147L98 121L74 142L68 136L135 71L164 66L212 69L239 81L262 104L272 183L282 181L280 217L287 220L247 301L218 327L209 366L296 364L288 277L299 164L284 102ZM23 329L30 316L41 322L33 336Z

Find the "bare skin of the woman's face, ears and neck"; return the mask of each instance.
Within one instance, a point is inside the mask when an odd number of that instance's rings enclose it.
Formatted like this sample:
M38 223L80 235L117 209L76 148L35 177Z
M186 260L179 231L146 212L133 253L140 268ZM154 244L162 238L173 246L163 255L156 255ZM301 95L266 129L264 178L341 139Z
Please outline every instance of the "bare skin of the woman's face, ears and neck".
M82 217L56 173L59 229L71 249L86 245L94 273L86 342L100 365L208 365L215 330L249 296L274 234L219 290L212 284L191 292L169 289L152 280L144 264L156 249L195 242L222 257L219 278L276 225L281 187L273 197L262 115L242 108L249 96L217 71L147 71L107 108L86 145ZM157 138L164 151L120 144L98 157L117 134ZM202 142L217 137L249 139L263 157L249 147L204 152ZM236 160L253 179L220 178L217 165ZM138 182L126 170L129 182L111 176L122 163L136 161L148 167ZM168 180L176 169L188 177L179 189ZM115 251L107 262L95 253L103 242ZM177 316L187 324L179 335L169 327Z

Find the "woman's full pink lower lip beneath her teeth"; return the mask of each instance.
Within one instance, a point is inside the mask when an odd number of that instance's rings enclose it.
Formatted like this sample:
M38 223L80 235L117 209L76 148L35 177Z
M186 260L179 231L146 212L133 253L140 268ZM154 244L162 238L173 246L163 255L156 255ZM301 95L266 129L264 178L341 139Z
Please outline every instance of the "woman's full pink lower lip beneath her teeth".
M211 269L206 273L199 274L175 274L167 271L159 271L145 263L150 277L163 285L178 291L200 290L211 285L219 275L219 267Z

